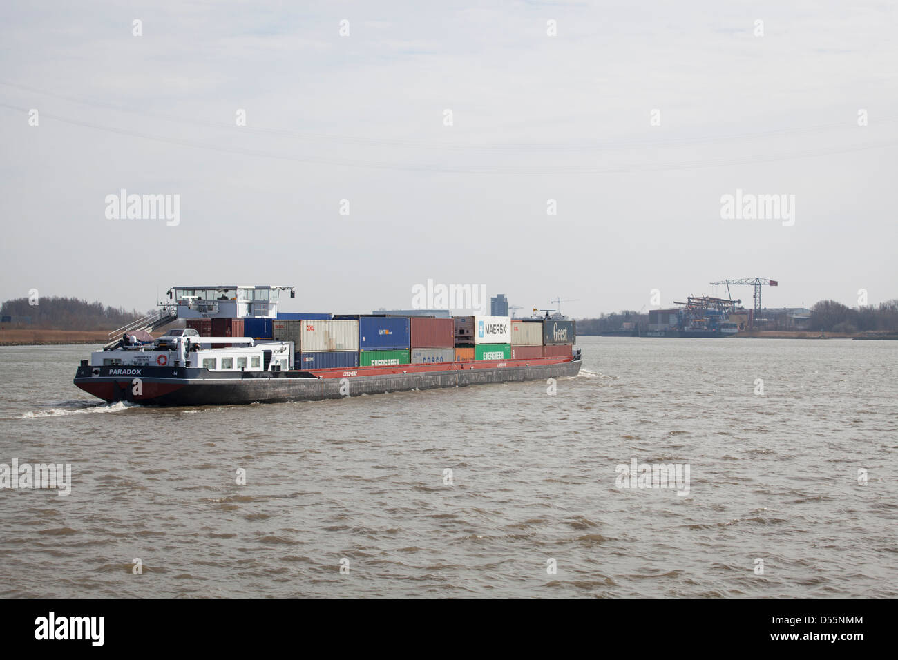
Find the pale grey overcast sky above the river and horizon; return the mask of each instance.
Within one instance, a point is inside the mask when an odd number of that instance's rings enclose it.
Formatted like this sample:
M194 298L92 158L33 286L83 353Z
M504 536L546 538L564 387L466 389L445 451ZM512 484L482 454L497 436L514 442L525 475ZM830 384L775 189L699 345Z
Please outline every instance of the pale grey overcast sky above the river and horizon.
M365 312L432 278L584 317L770 277L765 306L893 299L894 7L4 3L0 298L273 283L286 310ZM121 189L180 195L180 224L108 219ZM722 219L737 189L794 195L794 224Z

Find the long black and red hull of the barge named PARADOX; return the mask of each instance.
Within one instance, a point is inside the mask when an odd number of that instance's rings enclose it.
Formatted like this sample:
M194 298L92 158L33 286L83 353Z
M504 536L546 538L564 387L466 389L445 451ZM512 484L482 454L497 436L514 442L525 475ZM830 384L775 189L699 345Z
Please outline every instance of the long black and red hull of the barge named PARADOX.
M75 374L75 385L110 402L223 406L546 380L576 376L581 365L579 355L247 374L186 367L83 365Z

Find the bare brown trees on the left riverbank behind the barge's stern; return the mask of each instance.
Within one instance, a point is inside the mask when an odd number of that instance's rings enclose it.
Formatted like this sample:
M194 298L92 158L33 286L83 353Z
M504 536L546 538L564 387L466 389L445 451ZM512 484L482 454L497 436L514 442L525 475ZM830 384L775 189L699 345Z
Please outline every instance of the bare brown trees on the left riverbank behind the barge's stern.
M55 296L39 298L37 303L30 304L28 298L7 300L0 305L0 325L6 329L116 330L145 313L78 298Z

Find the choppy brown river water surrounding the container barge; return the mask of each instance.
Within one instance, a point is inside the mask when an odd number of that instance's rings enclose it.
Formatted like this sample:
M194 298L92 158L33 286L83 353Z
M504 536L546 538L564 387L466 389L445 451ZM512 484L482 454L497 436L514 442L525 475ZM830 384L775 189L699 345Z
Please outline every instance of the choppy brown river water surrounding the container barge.
M898 595L898 342L579 342L554 395L202 409L0 348L0 463L71 465L67 496L0 489L0 594ZM633 461L683 480L621 488Z

